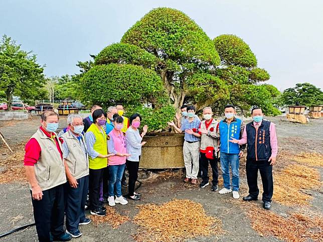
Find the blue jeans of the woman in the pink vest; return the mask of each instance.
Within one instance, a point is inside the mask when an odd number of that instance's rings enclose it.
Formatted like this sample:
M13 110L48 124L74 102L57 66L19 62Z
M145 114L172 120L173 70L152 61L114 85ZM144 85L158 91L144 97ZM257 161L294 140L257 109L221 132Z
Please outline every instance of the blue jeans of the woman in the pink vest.
M114 196L114 187L116 195L122 196L121 193L121 179L124 171L125 164L122 165L109 165L109 196Z

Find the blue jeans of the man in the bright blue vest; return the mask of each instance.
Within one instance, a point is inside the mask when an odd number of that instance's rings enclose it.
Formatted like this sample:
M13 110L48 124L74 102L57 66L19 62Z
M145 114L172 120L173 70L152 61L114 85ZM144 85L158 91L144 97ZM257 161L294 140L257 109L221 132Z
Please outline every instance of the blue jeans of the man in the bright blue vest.
M223 185L230 189L230 170L232 171L232 190L239 190L239 154L228 154L220 152L221 170L223 177Z

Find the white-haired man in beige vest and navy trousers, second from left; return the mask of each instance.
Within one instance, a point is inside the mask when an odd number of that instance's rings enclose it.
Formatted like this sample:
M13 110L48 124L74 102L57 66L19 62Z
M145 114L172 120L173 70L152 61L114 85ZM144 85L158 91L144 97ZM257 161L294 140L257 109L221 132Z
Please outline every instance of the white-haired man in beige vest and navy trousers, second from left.
M67 117L68 131L62 135L63 160L68 182L65 185L66 232L73 238L82 235L79 225L89 224L85 217L85 202L89 187L89 159L82 117L70 114Z

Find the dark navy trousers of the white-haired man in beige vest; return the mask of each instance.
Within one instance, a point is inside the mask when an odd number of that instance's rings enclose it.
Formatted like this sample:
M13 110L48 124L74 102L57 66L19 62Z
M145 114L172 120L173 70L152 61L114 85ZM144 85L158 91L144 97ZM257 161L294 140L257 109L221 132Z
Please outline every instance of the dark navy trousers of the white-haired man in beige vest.
M66 229L75 233L79 231L79 222L85 220L85 202L89 188L89 176L83 176L77 179L76 188L65 183L65 211L66 211Z

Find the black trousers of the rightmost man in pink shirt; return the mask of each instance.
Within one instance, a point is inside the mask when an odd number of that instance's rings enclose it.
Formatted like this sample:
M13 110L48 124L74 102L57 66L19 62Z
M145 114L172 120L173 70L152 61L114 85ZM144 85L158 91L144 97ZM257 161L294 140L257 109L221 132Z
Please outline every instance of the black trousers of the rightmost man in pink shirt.
M274 190L273 179L272 179L272 165L267 160L256 161L247 159L246 163L246 173L247 182L249 186L249 194L253 198L257 198L259 194L259 188L257 184L258 170L260 172L262 180L262 200L271 201L272 193Z

